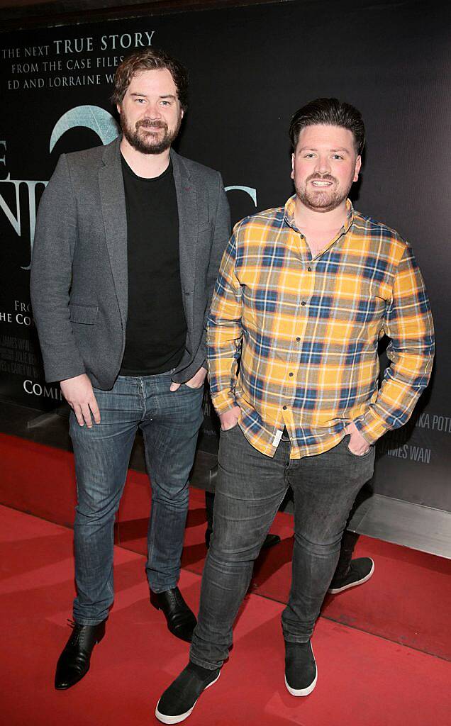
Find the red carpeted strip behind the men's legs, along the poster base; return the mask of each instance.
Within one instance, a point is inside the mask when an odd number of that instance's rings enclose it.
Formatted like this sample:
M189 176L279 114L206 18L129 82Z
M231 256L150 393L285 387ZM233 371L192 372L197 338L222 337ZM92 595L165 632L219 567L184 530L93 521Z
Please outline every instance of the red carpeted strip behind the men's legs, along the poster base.
M0 434L0 502L65 526L72 526L75 506L73 456L68 452ZM118 513L116 543L146 551L150 487L147 476L129 471ZM183 566L200 574L206 555L204 494L192 489ZM290 584L292 518L277 514L272 531L283 542L262 553L251 591L285 603ZM395 544L360 537L356 555L375 560L375 574L365 584L328 597L322 615L333 621L451 659L447 603L451 602L451 562ZM425 725L428 726L428 725Z

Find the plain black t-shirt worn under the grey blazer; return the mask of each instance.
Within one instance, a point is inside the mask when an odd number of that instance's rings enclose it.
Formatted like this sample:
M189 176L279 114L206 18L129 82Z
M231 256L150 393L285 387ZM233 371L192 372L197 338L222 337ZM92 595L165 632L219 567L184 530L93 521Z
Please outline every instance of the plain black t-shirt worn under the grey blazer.
M122 157L127 212L129 311L121 375L155 375L179 364L187 325L179 261L179 213L172 163L155 179Z

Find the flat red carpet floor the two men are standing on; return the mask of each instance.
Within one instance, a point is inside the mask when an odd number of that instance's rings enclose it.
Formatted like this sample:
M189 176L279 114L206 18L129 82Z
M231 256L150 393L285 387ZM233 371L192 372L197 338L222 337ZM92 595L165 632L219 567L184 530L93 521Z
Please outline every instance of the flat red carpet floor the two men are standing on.
M116 600L89 675L53 690L69 635L72 533L0 507L1 716L8 726L156 724L155 703L187 661L148 604L142 556L116 547ZM181 587L197 608L200 577ZM367 586L365 586L367 587ZM363 588L360 588L362 590ZM343 597L337 596L338 597ZM445 726L450 666L444 660L327 619L314 634L318 685L296 699L283 685L282 605L250 595L222 676L200 699L191 726Z

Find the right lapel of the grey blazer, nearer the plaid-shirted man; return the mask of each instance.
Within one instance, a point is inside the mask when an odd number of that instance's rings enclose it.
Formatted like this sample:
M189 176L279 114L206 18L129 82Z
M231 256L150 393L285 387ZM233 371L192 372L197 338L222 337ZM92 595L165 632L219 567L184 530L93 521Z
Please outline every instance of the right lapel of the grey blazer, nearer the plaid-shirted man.
M198 242L198 200L187 166L182 157L172 149L171 160L179 210L180 280L182 281L184 314L188 330L192 330L195 254Z

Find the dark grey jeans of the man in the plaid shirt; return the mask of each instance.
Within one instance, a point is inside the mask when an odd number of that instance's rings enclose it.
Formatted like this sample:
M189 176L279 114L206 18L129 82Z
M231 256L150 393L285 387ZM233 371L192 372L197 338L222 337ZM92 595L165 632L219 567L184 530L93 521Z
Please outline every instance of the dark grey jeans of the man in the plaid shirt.
M336 570L341 536L359 489L373 476L374 448L352 454L349 436L324 454L290 460L290 442L273 458L249 444L238 426L221 432L214 526L203 570L190 660L220 668L232 625L251 582L253 562L288 486L294 499L292 584L283 637L306 643Z

